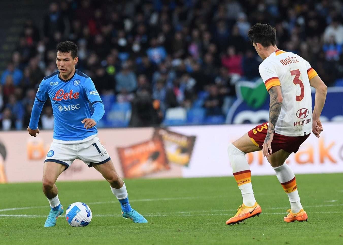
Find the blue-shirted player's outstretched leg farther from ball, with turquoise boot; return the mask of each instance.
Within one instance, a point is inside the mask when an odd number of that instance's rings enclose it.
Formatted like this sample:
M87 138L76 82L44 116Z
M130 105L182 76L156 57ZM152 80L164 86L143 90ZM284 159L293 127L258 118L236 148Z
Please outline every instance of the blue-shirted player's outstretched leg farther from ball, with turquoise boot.
M110 184L113 195L115 195L120 202L123 217L130 218L134 223L147 223L147 220L140 213L131 208L125 183L117 174L112 160L102 164L92 163L92 166L99 171Z

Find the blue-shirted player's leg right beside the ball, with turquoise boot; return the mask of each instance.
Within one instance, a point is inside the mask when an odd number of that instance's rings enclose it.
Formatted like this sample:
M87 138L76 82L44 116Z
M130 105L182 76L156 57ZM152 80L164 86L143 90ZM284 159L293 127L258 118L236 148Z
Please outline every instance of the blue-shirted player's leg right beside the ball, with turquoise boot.
M63 214L63 207L58 199L58 189L55 185L58 176L65 170L66 166L56 162L45 162L43 169L43 192L47 197L51 210L45 221L44 227L56 225L56 219Z

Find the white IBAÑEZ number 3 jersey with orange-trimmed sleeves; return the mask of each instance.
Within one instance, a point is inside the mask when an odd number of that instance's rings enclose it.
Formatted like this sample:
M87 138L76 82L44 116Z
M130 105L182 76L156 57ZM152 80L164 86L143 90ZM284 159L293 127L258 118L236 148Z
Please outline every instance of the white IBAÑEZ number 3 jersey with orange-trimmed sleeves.
M276 50L259 66L263 82L269 90L280 85L282 106L275 133L304 136L312 130L312 98L310 79L317 75L310 64L297 54Z

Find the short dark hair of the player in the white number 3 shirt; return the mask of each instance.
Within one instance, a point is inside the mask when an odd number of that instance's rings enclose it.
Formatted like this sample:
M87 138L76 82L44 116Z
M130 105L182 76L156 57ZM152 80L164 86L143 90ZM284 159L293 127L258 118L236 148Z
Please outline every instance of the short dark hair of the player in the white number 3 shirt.
M252 43L260 43L263 47L274 46L276 44L276 29L268 24L258 23L250 28L248 37Z

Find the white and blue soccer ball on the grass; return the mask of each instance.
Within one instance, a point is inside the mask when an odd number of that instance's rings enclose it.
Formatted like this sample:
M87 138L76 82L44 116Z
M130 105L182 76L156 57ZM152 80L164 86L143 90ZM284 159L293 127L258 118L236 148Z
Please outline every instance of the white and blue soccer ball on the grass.
M83 202L74 202L66 210L66 220L71 226L86 226L92 220L91 209Z

